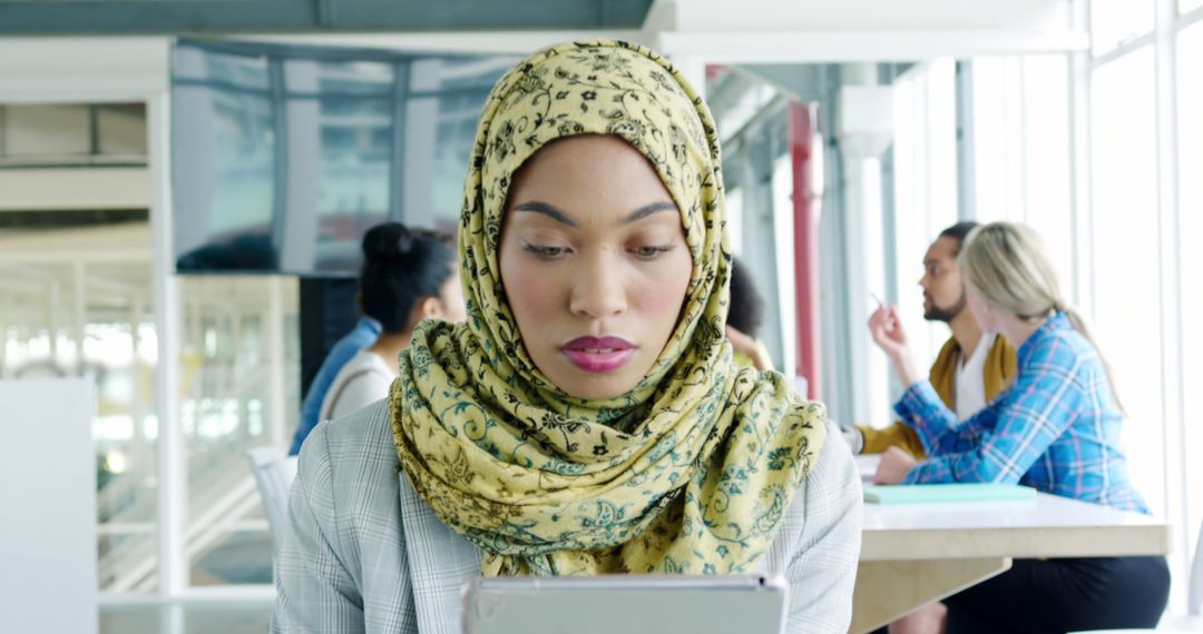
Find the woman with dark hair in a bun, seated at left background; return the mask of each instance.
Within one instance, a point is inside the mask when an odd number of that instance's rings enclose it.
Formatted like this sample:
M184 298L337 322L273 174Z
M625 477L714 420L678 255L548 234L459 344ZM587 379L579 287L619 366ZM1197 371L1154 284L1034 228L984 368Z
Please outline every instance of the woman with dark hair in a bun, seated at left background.
M319 420L349 414L389 394L397 355L422 319L464 318L463 289L451 238L397 222L363 235L360 306L380 323L375 343L351 358L326 391Z

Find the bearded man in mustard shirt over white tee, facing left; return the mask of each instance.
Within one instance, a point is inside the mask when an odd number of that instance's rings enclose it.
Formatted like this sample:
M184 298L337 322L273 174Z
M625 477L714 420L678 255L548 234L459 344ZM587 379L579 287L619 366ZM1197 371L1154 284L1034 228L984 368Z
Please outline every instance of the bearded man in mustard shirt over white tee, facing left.
M965 303L956 256L977 222L959 222L940 233L923 257L923 317L952 329L929 373L932 387L961 420L985 407L1015 376L1015 349L1001 335L983 333ZM919 437L902 421L885 429L858 425L845 431L857 454L879 454L899 447L918 460L926 457Z

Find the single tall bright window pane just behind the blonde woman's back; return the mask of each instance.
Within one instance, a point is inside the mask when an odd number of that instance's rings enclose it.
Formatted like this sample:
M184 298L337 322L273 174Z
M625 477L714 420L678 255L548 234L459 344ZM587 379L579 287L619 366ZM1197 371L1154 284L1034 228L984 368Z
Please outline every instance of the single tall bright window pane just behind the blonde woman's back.
M1161 269L1154 50L1095 71L1091 86L1095 327L1127 411L1124 447L1137 489L1166 513L1161 468ZM1144 333L1146 336L1133 336Z

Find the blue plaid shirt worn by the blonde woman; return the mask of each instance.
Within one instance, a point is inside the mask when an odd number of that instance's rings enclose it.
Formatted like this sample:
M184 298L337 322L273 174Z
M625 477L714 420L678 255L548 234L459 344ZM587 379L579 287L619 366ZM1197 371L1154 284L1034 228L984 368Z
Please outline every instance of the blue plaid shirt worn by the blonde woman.
M1149 513L1120 451L1124 413L1102 359L1061 312L1017 352L1014 383L965 421L926 379L894 409L919 435L929 460L905 484L1019 483L1047 494Z

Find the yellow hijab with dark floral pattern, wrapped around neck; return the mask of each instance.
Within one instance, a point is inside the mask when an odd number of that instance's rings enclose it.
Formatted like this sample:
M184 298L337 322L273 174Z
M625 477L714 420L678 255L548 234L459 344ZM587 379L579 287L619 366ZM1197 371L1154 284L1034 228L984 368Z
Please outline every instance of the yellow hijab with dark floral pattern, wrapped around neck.
M608 400L532 363L498 268L515 172L574 134L615 134L681 210L693 273L651 371ZM481 114L460 221L468 321L423 322L390 391L401 468L486 575L737 573L771 545L825 439L784 377L731 360L718 137L671 64L626 42L535 53Z

